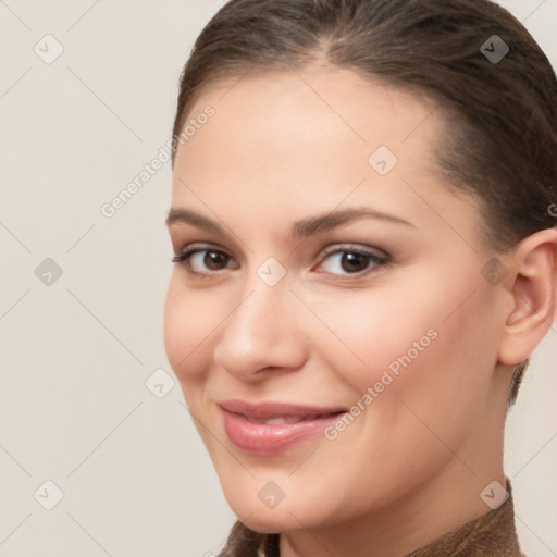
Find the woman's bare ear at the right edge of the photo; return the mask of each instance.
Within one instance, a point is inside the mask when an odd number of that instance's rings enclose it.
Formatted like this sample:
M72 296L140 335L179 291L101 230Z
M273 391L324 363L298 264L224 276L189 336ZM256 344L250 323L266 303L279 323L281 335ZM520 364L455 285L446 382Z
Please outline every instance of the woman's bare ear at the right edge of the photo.
M557 228L524 238L505 263L512 271L505 288L512 296L499 343L507 366L525 360L557 318Z

